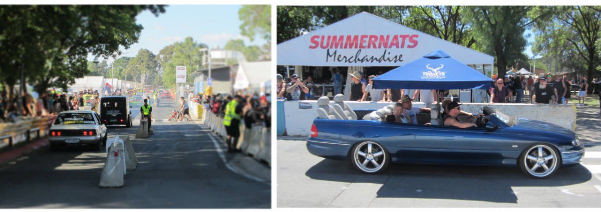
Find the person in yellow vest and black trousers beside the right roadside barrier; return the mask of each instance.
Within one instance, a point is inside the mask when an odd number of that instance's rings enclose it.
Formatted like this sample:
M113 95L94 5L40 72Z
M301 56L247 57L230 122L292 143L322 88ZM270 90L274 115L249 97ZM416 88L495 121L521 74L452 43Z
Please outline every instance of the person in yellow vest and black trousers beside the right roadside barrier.
M238 138L240 137L240 113L242 113L242 104L238 104L240 102L240 96L234 96L234 99L231 96L228 96L227 107L225 107L225 117L224 117L224 126L225 131L227 132L227 136L225 138L225 143L227 143L227 152L234 152L236 150L236 146L238 145Z

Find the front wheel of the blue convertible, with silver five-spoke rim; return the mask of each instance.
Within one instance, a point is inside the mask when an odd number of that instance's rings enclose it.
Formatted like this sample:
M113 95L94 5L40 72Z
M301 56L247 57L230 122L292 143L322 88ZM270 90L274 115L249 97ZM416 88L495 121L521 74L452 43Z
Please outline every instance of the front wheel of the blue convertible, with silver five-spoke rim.
M517 164L529 177L546 178L561 168L561 155L551 144L532 144L522 152Z

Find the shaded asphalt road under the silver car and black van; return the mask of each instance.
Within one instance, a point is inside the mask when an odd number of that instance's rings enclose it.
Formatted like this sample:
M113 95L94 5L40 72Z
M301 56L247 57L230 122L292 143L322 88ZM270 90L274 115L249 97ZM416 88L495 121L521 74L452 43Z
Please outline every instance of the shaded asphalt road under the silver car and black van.
M165 122L178 106L163 99L153 108L155 134L147 139L135 139L137 127L109 126L109 139L130 135L139 161L124 187L98 186L105 152L46 147L0 165L0 208L270 208L269 178L253 176L269 176L269 167L223 153L225 144L194 121ZM137 126L139 108L132 114Z

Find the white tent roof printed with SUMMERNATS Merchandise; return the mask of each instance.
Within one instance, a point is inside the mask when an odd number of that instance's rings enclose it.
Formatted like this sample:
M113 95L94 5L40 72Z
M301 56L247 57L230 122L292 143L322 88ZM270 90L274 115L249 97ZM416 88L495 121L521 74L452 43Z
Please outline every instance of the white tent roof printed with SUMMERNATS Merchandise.
M363 12L278 44L277 63L401 66L436 49L444 50L464 64L492 64L494 59L488 54Z

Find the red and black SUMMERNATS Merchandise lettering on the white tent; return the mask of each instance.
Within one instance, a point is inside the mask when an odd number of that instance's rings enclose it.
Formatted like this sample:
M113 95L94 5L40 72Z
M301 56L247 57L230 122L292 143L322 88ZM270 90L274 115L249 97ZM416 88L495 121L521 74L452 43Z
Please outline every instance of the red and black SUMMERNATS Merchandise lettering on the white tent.
M418 46L419 35L313 35L309 49L325 50L326 62L403 62L402 49ZM371 50L371 51L365 51Z

